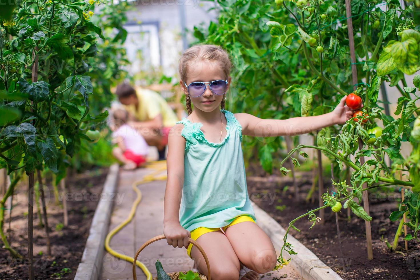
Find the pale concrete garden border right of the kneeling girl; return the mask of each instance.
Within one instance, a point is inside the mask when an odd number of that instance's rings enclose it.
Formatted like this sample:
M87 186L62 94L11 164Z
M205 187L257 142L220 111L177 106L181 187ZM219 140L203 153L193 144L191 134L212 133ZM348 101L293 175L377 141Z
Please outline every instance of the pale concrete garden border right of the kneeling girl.
M257 217L257 225L270 236L274 247L276 248L277 255L280 254L280 249L283 246L283 236L286 230L274 220L267 212L258 207L251 201L252 208L254 208L255 216ZM303 279L307 280L342 280L335 271L324 264L312 251L307 249L296 238L291 236L287 237L287 241L294 245L294 251L299 254L290 256L286 251L283 252L284 258L291 257L289 263Z

